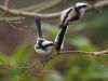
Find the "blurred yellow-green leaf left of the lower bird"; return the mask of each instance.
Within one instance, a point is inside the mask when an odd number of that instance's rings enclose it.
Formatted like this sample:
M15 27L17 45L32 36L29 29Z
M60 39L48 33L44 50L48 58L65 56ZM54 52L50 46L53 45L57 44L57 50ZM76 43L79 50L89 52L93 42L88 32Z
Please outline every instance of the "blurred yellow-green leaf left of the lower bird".
M23 65L29 60L32 53L33 53L32 48L29 49L26 43L23 43L16 48L11 59L16 65L21 65L21 64Z

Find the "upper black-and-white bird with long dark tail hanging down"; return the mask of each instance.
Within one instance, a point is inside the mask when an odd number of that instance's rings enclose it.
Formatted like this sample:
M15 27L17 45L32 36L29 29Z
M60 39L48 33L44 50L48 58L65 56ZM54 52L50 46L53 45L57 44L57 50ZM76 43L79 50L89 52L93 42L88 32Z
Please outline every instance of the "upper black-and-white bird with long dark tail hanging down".
M75 4L75 6L68 8L62 12L60 15L60 25L59 25L59 31L58 35L55 38L56 46L55 50L57 52L63 49L64 45L64 38L67 30L68 25L75 23L76 21L80 19L87 8L86 3L78 2Z

